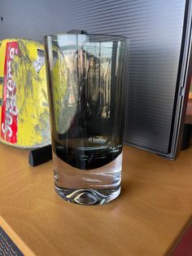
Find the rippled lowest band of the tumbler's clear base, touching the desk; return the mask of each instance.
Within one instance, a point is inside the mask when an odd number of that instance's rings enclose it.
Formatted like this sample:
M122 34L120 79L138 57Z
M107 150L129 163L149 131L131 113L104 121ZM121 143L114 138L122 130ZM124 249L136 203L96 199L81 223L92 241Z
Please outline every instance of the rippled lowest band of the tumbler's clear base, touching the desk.
M113 189L72 189L59 188L55 184L55 191L64 200L78 205L103 205L120 195L120 186Z

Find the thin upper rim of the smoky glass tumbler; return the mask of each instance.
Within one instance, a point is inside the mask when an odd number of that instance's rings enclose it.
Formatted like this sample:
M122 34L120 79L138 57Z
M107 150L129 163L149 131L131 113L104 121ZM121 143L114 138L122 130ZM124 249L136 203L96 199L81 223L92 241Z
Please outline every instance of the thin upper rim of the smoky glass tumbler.
M58 37L58 36L69 36L69 35L79 35L79 36L100 36L100 37L116 37L116 38L121 38L123 40L130 40L128 37L121 36L121 35L116 35L116 34L111 34L111 33L53 33L53 34L48 34L44 36L44 39L46 38L53 38L53 37Z

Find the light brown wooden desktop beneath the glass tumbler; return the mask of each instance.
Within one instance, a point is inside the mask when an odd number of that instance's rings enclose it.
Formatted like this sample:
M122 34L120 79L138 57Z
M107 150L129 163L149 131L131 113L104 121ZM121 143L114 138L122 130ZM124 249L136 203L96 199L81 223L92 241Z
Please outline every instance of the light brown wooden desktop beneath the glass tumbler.
M107 205L63 201L52 162L0 144L0 226L25 255L163 255L192 213L192 148L177 161L124 147L122 193Z

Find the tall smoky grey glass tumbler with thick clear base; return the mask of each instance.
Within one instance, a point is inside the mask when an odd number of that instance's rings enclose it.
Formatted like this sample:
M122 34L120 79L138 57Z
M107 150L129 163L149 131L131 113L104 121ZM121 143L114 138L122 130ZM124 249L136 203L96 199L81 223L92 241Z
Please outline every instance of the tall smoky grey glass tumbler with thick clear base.
M81 205L120 194L128 38L46 36L55 191Z

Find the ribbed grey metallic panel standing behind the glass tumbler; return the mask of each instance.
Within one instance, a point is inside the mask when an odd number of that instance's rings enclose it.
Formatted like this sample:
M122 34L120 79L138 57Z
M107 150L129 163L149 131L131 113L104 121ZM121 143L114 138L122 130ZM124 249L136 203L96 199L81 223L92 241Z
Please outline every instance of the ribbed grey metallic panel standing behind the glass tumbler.
M0 39L85 29L130 38L125 142L168 152L185 1L1 0Z

